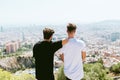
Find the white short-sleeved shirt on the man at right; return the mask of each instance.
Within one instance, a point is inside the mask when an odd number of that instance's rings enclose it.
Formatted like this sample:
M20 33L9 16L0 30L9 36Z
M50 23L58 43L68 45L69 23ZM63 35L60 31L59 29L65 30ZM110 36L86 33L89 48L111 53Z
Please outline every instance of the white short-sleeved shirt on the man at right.
M69 79L80 80L84 76L81 55L84 47L82 40L71 38L60 50L60 53L64 54L64 73Z

